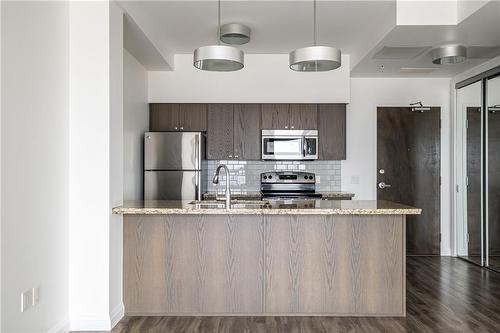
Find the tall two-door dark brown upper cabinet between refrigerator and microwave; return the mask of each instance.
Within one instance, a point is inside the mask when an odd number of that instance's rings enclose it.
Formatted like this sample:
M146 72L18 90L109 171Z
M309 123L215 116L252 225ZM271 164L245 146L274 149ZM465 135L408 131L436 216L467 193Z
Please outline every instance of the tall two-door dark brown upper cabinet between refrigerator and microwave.
M260 160L260 105L209 104L209 160Z

